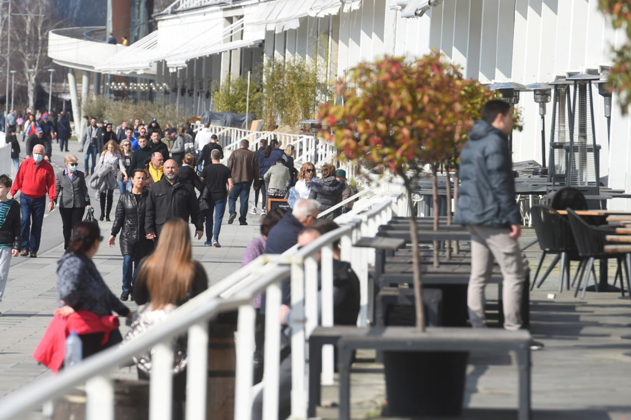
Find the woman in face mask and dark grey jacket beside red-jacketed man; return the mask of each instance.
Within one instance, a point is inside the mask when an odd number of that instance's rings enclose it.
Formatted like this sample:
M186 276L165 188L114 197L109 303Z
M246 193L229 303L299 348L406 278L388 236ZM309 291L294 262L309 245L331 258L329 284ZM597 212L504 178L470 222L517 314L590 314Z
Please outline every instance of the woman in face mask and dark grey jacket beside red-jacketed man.
M85 174L77 169L78 158L68 155L64 158L66 169L57 173L56 187L61 214L62 230L64 231L64 249L68 251L70 234L73 226L83 220L85 209L90 208L90 195L85 184Z

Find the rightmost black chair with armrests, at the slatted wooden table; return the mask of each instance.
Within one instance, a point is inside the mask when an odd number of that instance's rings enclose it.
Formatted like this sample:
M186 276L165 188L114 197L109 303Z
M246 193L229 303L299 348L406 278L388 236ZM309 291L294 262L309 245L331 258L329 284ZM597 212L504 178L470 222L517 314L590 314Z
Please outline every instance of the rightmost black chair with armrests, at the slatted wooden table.
M575 213L572 209L567 209L567 216L570 221L570 226L572 226L572 234L576 240L576 246L579 250L579 255L581 257L587 259L587 264L583 266L581 277L579 277L579 283L576 286L576 291L574 296L578 295L579 288L581 288L581 282L583 277L583 272L587 270L587 279L583 283L583 289L581 293L581 299L585 297L585 291L587 289L587 283L589 283L589 272L594 267L595 259L610 259L615 258L618 261L618 271L624 268L622 271L624 275L627 277L627 289L630 292L631 297L631 283L629 281L629 268L627 265L627 255L626 254L608 254L604 252L604 245L607 244L607 240L605 238L606 235L615 234L615 227L613 226L594 226L589 225L584 219L581 218L578 214ZM620 278L620 289L622 290L622 296L625 295L625 288L623 277ZM598 281L594 278L596 283L596 291L598 291Z

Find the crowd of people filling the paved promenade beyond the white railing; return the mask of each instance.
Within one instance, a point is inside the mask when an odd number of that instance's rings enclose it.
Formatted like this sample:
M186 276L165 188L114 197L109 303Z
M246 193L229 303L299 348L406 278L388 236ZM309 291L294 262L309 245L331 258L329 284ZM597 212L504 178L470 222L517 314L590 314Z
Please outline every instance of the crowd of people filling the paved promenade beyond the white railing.
M89 124L81 133L78 147L78 152L83 153L83 172L79 170L80 158L72 153L64 157L64 168L54 172L49 162L52 140L57 138L60 151L67 151L72 132L65 115L59 115L53 124L43 114L40 124L25 136L26 158L21 163L20 142L16 132L11 131L8 141L12 151L15 149L17 175L15 182L6 175L0 176L0 301L10 257L37 257L45 209L50 212L59 206L65 250L57 269L59 308L34 355L53 370L62 368L62 359L54 352L47 352L46 346L58 340L60 325L78 328L83 356L89 356L122 341L113 313L126 317L133 314L121 301L131 298L141 305L134 315L128 337L131 338L208 287L206 272L192 259L190 224L198 240L205 233L204 245L221 247L221 225L226 211L228 224L238 217L239 225L247 225L249 195L254 189L256 198L250 213L257 214L257 198L261 195L260 214L264 217L261 236L245 251L245 265L258 255L281 254L294 245L315 240L324 233L317 229L318 214L347 197L350 189L345 173L336 173L332 165L322 166L322 178L317 177L312 163L296 170L295 149L293 146L281 149L275 138L269 143L262 140L256 152L249 149L248 140L241 141L240 148L230 154L224 165L223 148L208 124L196 135L190 125L161 127L156 120L147 126L136 119L133 125L124 122L114 127L95 118L84 119ZM25 128L31 123L29 119ZM89 189L95 190L93 196L100 203L98 221L113 222L107 245L115 247L118 237L123 257L119 297L113 295L93 263L103 236L96 219L84 219L86 210L88 214L92 211ZM114 190L119 192L117 203ZM19 204L9 198L18 191ZM268 209L268 199L287 198L290 211ZM240 201L238 213L237 201ZM333 223L328 228L334 226ZM335 255L339 257L339 252ZM346 313L349 320L357 318L359 295L353 283L357 276L350 267L345 266L341 271L338 264L335 267L336 293L345 296L340 300L345 305L340 313ZM339 279L343 276L338 271L346 272L342 283ZM288 281L283 283L286 314L291 313L289 286ZM256 306L260 327L264 320L264 300L259 297ZM81 324L82 319L89 322ZM286 332L287 325L283 321L279 327ZM260 333L262 328L257 330ZM264 336L259 333L255 340L257 382L261 380L264 363ZM186 342L183 345L186 347ZM281 355L283 370L290 368L287 354ZM176 356L175 365L178 363ZM137 358L136 365L139 378L148 378L150 353ZM186 396L183 386L186 363L180 364L177 371L174 368L174 373L177 406ZM283 374L281 389L287 387L290 376ZM260 395L257 398L259 401ZM181 416L177 407L174 416ZM256 404L253 416L257 417Z

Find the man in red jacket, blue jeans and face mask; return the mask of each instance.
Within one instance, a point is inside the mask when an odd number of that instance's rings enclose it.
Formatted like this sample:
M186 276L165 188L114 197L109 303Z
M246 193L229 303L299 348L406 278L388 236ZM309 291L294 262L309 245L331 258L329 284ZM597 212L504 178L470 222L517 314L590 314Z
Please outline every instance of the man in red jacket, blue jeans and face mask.
M20 207L22 213L22 257L37 257L42 239L42 223L46 192L48 191L48 211L55 208L55 173L52 165L44 160L45 149L42 144L33 148L33 157L24 160L15 176L11 187L11 197L20 190ZM31 226L31 219L33 226Z

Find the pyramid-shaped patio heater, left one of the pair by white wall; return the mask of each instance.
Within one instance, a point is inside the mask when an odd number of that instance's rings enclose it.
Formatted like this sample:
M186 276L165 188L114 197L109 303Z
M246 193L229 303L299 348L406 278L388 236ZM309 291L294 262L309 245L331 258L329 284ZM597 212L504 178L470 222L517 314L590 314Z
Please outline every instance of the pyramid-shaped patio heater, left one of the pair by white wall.
M548 156L548 182L552 187L565 185L567 156L565 144L572 136L572 99L570 85L565 78L550 83L554 88L552 101L552 126L550 129L550 155Z

